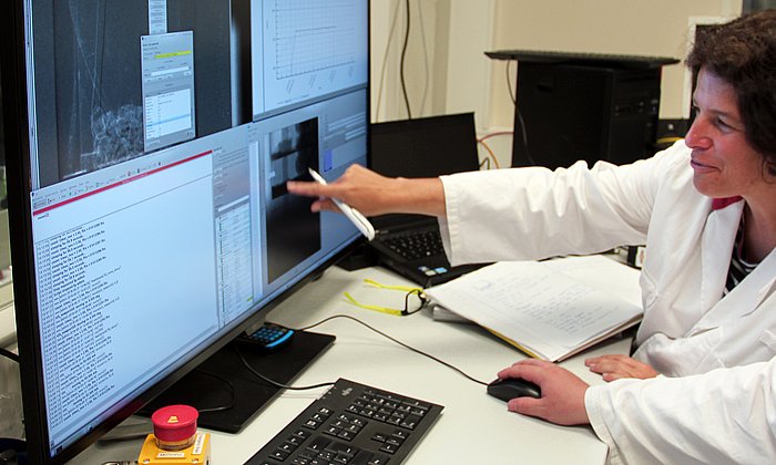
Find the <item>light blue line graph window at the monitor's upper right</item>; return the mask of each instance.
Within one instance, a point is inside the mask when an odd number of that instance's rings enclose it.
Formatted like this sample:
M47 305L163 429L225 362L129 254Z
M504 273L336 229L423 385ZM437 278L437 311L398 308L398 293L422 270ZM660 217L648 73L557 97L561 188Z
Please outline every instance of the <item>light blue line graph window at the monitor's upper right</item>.
M252 12L254 116L363 84L364 12L355 0L265 0Z

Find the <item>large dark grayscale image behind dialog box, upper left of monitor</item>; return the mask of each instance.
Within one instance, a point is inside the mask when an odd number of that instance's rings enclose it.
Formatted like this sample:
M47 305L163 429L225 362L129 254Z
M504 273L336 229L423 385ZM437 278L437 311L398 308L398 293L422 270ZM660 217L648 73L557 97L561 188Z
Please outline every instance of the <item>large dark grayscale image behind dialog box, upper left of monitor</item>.
M167 2L166 22L162 24L165 33L193 35L192 50L186 50L193 55L193 70L186 73L193 72L194 84L186 91L186 99L191 100L192 112L196 108L197 113L188 115L192 127L186 136L172 142L167 138L167 146L244 122L233 102L239 79L225 79L236 73L235 54L231 52L237 35L231 33L232 13L229 0ZM149 111L144 105L154 105L153 111L161 108L160 118L170 113L164 113L159 99L153 99L159 93L145 99L143 94L147 80L143 75L141 40L149 35L147 0L39 1L33 23L38 25L33 40L40 186L163 148L161 144L144 147L144 111ZM44 30L48 33L41 32ZM171 70L173 65L180 66L171 63ZM155 76L170 78L163 71L155 68ZM249 117L248 111L245 120Z

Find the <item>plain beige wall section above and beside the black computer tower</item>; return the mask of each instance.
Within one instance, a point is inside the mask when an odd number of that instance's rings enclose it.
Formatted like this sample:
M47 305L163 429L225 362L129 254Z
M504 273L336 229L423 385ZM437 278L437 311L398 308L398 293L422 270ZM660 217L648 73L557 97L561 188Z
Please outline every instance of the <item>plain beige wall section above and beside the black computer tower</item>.
M703 18L725 18L741 12L741 1L721 0L501 0L494 23L497 49L562 50L671 56L683 60L688 30ZM503 63L497 66L503 66ZM683 64L663 69L661 117L688 116ZM491 121L511 121L506 83L494 72ZM498 83L501 83L499 85ZM504 102L507 101L507 102Z

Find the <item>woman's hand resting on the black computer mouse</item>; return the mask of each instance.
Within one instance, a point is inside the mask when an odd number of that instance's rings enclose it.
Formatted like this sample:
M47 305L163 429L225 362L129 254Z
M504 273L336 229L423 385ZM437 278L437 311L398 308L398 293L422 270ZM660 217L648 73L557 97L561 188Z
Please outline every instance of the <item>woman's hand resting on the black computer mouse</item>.
M499 379L522 378L542 391L541 399L518 397L507 404L512 412L535 416L559 425L589 424L584 407L588 383L570 371L542 360L521 360L501 370Z

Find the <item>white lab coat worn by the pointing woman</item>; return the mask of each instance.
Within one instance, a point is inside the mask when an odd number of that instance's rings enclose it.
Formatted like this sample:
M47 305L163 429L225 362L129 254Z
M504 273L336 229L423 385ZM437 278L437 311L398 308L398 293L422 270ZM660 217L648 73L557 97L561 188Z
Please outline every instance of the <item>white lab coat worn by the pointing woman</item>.
M634 356L664 376L588 390L610 461L776 463L776 252L722 299L744 202L713 209L692 178L683 142L627 166L445 176L446 251L456 265L646 244Z

